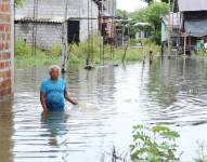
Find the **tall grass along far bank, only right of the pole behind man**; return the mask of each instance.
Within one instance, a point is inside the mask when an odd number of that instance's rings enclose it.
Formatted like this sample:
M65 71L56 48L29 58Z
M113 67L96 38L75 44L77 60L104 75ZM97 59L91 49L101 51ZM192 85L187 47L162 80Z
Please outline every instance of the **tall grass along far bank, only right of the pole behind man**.
M150 51L153 51L154 54L159 52L159 46L151 42L148 39L143 39L142 44L143 48L138 48L134 44L137 40L130 40L130 45L127 50L126 62L139 62L142 60L145 56L147 56ZM94 64L100 64L102 60L100 59L100 51L103 54L104 51L104 60L109 62L113 59L112 46L101 45L100 49L100 39L99 37L93 38L93 45L90 51L90 60ZM126 46L115 46L114 48L114 60L121 62ZM88 41L81 42L79 44L72 44L68 48L68 55L70 63L85 63L88 55ZM102 56L101 56L102 57Z

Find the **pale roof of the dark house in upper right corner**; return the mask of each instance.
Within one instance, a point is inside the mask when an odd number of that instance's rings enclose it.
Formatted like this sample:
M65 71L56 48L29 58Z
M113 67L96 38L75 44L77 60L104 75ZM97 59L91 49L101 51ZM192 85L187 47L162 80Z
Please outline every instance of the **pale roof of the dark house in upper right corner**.
M207 0L178 0L179 10L184 11L207 11Z

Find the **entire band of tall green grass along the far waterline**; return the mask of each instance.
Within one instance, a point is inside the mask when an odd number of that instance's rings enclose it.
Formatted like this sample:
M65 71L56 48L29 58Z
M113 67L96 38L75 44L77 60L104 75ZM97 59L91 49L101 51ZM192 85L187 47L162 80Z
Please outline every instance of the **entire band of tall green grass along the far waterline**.
M116 62L120 63L125 53L126 46L100 46L100 38L94 37L93 41L90 42L92 49L88 51L88 40L79 44L68 45L68 58L69 64L86 64L88 53L90 55L90 63L101 64L103 55L100 56L104 51L104 62ZM147 39L142 40L143 48L135 46L137 40L130 40L130 45L127 50L125 62L140 62L143 60L150 51L154 54L159 52L159 46L152 43ZM50 51L41 51L37 49L36 55L33 55L33 48L26 44L23 40L17 40L15 43L15 66L18 68L30 67L30 66L43 66L51 64L60 64L61 56L61 44L55 44ZM100 58L101 57L101 58Z

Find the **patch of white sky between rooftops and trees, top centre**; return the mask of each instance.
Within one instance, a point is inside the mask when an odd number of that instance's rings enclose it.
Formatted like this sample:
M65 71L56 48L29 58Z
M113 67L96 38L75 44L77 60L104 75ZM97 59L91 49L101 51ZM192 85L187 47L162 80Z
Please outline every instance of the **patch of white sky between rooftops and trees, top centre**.
M141 0L117 0L117 8L129 12L143 8L145 5L146 3Z

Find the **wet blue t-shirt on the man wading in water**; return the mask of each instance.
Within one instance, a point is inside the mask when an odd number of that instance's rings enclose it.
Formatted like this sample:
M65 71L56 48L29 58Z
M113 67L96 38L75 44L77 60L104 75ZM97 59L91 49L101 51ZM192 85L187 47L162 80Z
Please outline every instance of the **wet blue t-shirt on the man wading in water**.
M49 110L64 110L66 91L67 85L63 79L56 81L48 79L40 86L40 92L46 95L46 105Z

